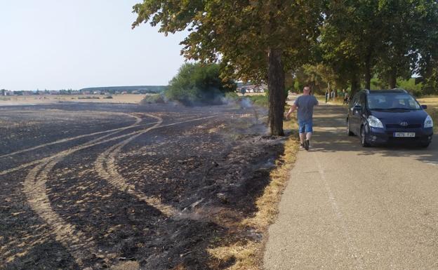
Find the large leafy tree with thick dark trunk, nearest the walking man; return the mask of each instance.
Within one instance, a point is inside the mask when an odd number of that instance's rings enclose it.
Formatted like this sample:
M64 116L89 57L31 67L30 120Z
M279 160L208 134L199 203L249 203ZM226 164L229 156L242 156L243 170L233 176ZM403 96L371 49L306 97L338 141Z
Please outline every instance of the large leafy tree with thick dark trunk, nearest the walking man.
M144 0L133 7L142 22L165 34L187 30L182 53L202 62L223 63L223 78L267 81L269 124L284 135L287 70L312 53L323 20L323 0Z

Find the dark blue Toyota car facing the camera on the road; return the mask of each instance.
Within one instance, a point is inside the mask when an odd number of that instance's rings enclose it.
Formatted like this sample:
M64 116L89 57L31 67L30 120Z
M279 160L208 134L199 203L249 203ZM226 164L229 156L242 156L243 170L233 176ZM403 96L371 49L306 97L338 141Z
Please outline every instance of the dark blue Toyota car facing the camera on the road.
M433 121L426 105L406 90L361 90L349 104L347 134L357 135L363 147L417 143L428 147Z

